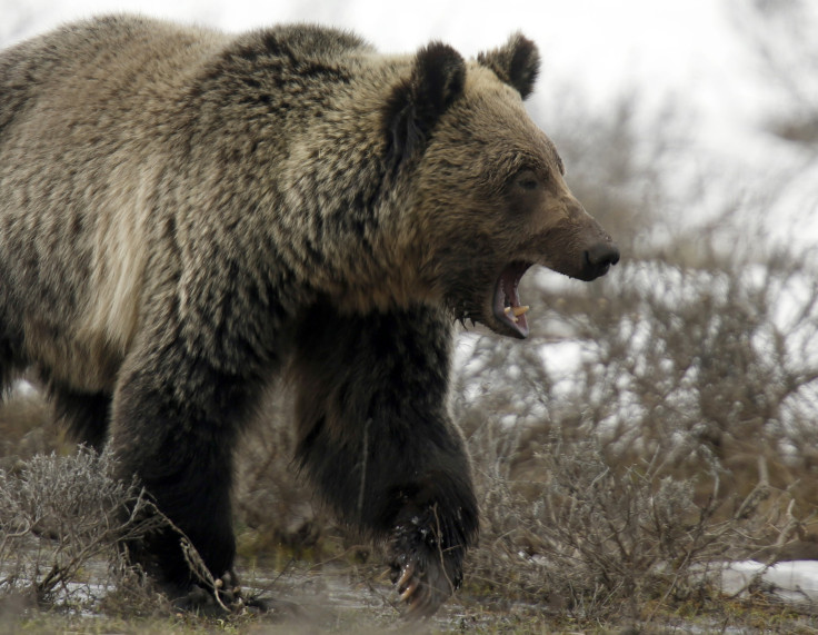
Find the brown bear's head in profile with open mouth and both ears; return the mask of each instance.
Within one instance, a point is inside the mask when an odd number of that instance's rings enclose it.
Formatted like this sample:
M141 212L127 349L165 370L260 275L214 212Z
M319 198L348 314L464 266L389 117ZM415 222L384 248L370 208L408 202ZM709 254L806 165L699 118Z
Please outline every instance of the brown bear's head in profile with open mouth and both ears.
M383 111L390 166L412 183L423 279L457 318L519 338L528 323L518 286L532 265L593 280L619 260L523 108L538 70L520 34L469 62L431 43Z

